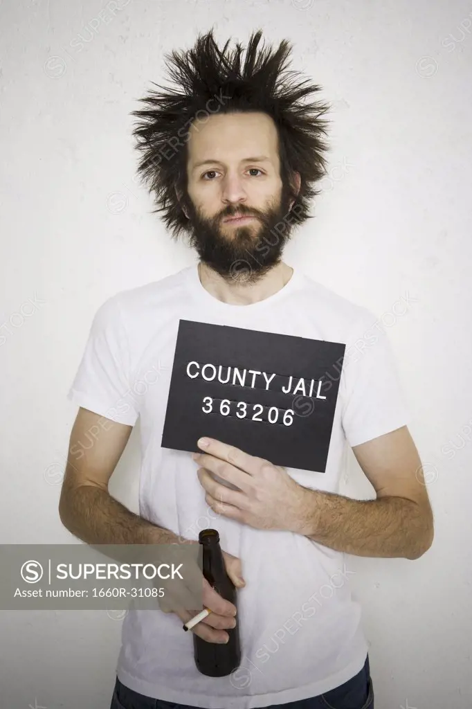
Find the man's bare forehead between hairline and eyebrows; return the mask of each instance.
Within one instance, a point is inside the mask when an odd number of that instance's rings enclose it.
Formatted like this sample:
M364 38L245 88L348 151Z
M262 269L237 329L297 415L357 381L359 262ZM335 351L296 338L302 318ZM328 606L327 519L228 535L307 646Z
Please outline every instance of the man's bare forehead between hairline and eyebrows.
M276 125L266 113L222 113L194 121L188 151L190 169L203 160L230 164L262 155L279 165Z

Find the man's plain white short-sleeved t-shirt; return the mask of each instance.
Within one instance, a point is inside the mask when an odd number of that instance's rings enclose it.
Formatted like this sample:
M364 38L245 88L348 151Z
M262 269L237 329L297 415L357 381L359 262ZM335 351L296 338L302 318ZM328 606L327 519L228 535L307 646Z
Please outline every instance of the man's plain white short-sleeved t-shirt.
M196 264L108 298L68 398L119 423L134 425L140 416L140 515L192 540L206 527L218 529L222 549L240 557L246 581L237 591L240 669L221 678L200 674L191 633L176 614L130 610L118 679L147 696L207 709L326 693L357 674L368 652L344 554L218 515L205 502L191 453L161 447L179 319L346 344L326 471L287 468L305 487L337 493L346 443L359 445L410 420L376 316L298 268L276 294L243 306L209 294Z

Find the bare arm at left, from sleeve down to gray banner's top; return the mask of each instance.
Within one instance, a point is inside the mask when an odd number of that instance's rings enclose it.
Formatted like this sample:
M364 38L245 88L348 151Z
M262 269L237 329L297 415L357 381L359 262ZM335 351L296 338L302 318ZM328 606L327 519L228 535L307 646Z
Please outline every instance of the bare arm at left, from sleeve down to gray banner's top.
M59 515L64 527L86 544L172 544L181 541L174 532L135 515L108 492L108 481L132 430L132 426L79 408L69 440ZM89 447L92 431L98 433ZM72 454L72 450L77 454ZM190 540L186 542L191 543Z

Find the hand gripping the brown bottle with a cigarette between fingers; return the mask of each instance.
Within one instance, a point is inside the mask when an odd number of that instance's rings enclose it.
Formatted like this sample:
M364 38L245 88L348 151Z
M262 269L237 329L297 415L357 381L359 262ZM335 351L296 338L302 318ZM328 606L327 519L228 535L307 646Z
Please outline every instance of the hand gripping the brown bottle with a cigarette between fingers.
M245 586L245 581L241 576L241 562L237 557L233 557L232 554L223 552L223 560L225 562L225 569L227 575L230 577L232 583L236 588L241 588ZM203 574L202 574L203 576ZM202 596L203 606L212 611L210 615L194 625L189 632L195 633L198 637L206 642L227 642L229 636L227 632L224 632L225 628L235 627L235 613L236 607L230 601L226 601L222 598L220 594L215 591L214 588L208 584L208 581L203 576L203 596ZM179 610L164 611L166 613L176 613L182 621L182 624L186 623L188 620L193 618L199 610L184 610L180 608ZM182 630L182 632L184 632Z

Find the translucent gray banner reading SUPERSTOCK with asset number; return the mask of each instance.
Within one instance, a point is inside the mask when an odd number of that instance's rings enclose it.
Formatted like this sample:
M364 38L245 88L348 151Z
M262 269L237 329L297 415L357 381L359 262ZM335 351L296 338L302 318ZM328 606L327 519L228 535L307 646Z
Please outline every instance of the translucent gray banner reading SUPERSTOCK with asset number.
M201 610L199 544L0 545L0 610Z

